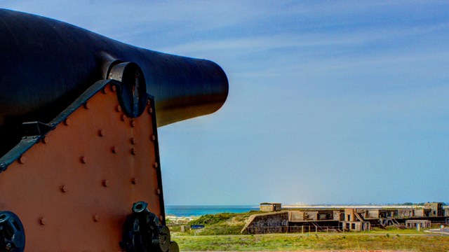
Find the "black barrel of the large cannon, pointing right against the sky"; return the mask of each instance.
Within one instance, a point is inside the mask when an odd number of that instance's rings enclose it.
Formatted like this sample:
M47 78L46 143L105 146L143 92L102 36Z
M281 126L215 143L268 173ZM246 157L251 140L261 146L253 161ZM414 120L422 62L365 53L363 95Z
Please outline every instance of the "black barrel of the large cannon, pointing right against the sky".
M213 113L227 98L227 77L214 62L138 48L58 20L0 9L0 41L0 125L51 120L105 78L114 61L140 66L158 126Z

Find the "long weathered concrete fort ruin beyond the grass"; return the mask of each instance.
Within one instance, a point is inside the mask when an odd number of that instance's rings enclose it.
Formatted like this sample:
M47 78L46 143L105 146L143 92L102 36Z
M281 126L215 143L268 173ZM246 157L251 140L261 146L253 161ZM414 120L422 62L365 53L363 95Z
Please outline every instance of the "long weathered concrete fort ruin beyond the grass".
M264 214L250 216L242 232L349 232L370 228L429 228L431 223L449 223L449 207L442 203L413 206L287 206L260 204Z

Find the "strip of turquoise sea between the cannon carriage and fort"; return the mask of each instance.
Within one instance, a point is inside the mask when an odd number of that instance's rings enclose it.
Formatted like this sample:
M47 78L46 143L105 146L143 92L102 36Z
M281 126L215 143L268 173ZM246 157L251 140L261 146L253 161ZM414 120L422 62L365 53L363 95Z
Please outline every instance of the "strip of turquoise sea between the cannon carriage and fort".
M166 206L166 214L177 217L220 213L244 213L251 210L259 210L259 206Z

